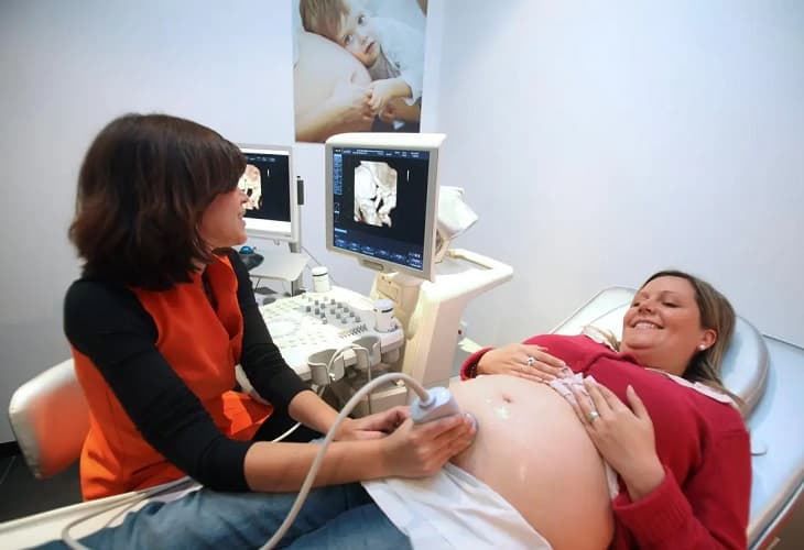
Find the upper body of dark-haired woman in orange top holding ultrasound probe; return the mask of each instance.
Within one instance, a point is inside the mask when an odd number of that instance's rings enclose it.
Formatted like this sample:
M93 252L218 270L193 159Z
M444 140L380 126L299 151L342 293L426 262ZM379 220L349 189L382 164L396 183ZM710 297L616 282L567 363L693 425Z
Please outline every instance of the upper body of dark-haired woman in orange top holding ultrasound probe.
M164 114L112 121L86 154L69 228L85 263L64 309L90 411L85 498L184 475L297 491L317 446L264 440L294 420L308 440L337 416L283 361L230 249L246 241L245 166L213 130ZM232 389L238 363L271 405ZM403 407L347 420L316 485L426 476L472 436L464 417L413 426Z

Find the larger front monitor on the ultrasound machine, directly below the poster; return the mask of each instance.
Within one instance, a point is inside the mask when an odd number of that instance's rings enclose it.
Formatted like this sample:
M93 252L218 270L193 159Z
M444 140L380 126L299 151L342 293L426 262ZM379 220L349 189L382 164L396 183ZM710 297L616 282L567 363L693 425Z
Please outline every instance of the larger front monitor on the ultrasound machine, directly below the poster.
M326 142L327 249L377 271L434 277L441 134Z

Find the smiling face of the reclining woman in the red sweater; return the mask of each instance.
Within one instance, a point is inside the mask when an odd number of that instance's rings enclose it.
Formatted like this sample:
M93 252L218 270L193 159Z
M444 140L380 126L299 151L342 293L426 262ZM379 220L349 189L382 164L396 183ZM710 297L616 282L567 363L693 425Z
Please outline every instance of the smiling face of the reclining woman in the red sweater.
M717 332L700 324L695 288L685 278L656 277L633 298L622 321L620 351L645 365L682 376L693 355Z

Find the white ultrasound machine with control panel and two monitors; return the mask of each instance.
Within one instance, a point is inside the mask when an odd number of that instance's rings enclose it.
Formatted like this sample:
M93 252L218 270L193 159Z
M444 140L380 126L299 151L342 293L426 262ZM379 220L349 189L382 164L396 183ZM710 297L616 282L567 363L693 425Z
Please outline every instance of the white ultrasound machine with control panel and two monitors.
M325 144L326 248L376 271L372 288L367 296L314 274L313 288L273 300L261 311L285 361L303 380L329 385L336 405L388 372L410 374L425 387L446 387L466 305L512 276L508 265L448 250L450 240L477 217L460 200L459 189L445 188L439 201L443 140L442 134L355 133ZM250 200L247 232L297 243L298 191L284 162L290 151L242 150L249 165L245 178L252 173L245 185L254 189L250 197L270 197L274 204L268 211L268 200L261 208L259 199ZM252 185L257 178L263 182L261 189ZM265 182L281 188L281 195ZM252 275L271 270L276 261L281 256L268 256ZM242 373L239 378L248 389ZM405 386L389 383L366 397L356 414L408 402Z

